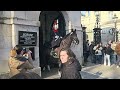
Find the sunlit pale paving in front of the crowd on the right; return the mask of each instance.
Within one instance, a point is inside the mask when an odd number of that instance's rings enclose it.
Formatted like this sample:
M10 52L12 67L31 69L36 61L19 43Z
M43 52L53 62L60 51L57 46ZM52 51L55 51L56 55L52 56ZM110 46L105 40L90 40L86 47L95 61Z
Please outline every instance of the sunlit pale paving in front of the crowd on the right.
M82 71L107 79L120 79L120 68L116 68L114 64L111 66L104 66L103 64L90 65L91 63L89 62L88 64Z

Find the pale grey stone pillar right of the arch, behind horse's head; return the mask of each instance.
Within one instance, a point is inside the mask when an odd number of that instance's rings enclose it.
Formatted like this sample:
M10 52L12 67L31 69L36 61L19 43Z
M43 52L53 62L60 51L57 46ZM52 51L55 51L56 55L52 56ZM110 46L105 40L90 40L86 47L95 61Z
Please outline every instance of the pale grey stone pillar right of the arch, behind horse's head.
M79 39L79 44L72 46L71 49L77 56L80 64L83 64L83 32L81 28L81 13L80 11L68 11L69 22L73 29L76 29L76 33Z

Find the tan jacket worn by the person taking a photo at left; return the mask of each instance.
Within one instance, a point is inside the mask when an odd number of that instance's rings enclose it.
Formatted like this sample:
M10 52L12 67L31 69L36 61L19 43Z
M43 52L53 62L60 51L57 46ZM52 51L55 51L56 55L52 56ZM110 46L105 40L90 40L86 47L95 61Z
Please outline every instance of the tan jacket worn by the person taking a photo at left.
M10 57L8 65L11 76L14 76L20 72L26 72L28 69L34 68L23 56Z

